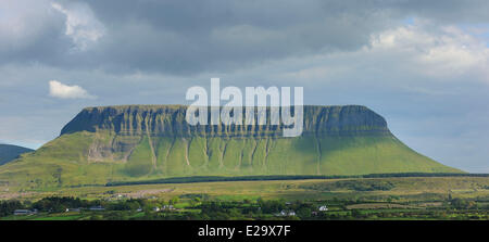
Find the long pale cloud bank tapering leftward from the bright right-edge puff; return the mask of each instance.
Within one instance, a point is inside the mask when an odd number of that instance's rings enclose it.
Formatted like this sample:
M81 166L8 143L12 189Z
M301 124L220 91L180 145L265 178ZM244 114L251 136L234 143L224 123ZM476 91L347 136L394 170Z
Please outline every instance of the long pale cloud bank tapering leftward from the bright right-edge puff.
M416 21L372 35L369 43L356 51L284 59L274 66L278 68L275 73L281 73L277 79L311 88L348 80L352 85L367 81L419 90L441 82L489 84L489 46L461 27ZM269 65L258 68L273 73Z

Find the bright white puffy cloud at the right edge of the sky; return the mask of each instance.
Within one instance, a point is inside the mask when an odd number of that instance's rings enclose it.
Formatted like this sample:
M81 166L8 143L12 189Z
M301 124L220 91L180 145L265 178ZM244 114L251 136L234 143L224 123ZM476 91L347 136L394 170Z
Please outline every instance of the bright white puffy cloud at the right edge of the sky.
M435 78L472 75L489 81L489 48L456 26L402 26L372 37L372 55L397 55L397 64Z

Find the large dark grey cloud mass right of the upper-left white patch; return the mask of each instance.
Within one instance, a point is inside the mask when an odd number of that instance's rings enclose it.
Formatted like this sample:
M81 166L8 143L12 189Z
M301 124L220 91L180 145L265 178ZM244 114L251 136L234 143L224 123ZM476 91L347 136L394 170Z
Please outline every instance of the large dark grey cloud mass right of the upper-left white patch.
M93 51L125 71L218 72L290 55L355 50L373 31L390 25L383 10L324 1L89 3L112 26Z

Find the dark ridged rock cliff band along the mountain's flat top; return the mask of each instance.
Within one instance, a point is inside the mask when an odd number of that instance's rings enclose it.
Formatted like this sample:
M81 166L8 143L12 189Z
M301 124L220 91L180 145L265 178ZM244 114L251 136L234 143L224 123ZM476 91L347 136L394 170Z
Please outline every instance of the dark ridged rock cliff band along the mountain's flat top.
M120 136L256 137L281 136L283 125L191 126L185 105L126 105L84 109L61 131L109 131ZM304 106L303 136L390 135L386 120L365 106Z

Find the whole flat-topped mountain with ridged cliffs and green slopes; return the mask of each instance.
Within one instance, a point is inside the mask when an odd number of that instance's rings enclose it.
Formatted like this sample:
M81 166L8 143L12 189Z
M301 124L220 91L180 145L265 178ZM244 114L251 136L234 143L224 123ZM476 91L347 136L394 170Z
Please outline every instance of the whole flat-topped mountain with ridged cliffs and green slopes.
M0 167L29 188L183 176L461 173L398 140L365 106L304 106L303 132L281 126L190 126L184 105L84 109L60 137Z

